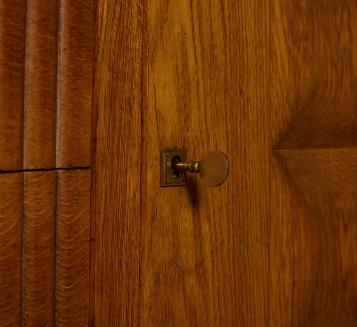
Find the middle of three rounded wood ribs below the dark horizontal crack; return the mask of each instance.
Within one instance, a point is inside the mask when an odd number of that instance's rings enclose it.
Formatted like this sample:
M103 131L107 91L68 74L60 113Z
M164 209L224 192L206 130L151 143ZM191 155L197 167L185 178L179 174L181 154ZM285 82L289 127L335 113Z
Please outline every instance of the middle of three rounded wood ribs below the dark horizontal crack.
M22 326L54 325L56 171L24 173Z

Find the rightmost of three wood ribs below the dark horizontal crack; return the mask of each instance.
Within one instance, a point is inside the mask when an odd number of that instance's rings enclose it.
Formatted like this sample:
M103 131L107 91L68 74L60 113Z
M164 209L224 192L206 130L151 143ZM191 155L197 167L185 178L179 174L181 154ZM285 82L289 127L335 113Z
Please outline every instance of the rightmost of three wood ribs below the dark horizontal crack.
M90 170L57 171L55 326L89 324Z

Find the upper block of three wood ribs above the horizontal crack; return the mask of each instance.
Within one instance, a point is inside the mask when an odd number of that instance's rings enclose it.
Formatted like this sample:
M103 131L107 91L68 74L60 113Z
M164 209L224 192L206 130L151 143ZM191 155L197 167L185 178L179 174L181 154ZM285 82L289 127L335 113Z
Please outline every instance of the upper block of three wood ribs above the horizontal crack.
M89 167L94 1L0 9L0 171Z

